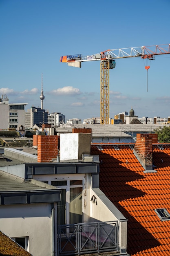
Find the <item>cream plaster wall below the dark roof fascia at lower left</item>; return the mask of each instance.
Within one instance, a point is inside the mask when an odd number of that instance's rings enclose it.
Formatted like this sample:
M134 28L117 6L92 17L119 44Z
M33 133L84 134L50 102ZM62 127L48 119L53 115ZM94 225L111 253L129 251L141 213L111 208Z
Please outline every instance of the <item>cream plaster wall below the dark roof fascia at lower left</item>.
M28 236L33 256L52 255L51 204L1 205L0 229L11 238Z

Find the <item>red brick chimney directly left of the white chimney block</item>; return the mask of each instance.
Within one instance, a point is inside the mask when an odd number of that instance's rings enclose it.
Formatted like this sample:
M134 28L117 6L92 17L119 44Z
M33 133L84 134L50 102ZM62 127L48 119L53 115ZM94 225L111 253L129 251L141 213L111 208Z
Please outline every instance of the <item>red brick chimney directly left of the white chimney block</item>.
M51 162L53 158L57 158L58 149L60 147L60 136L57 135L35 135L33 140L37 139L38 145L38 162ZM34 144L34 141L33 141Z

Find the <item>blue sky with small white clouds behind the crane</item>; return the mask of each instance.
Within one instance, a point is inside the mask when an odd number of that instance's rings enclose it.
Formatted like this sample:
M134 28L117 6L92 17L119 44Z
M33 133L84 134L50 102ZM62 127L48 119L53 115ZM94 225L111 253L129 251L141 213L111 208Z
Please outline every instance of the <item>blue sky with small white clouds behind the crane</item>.
M169 0L0 0L0 94L40 107L43 74L46 110L99 117L100 62L75 68L60 56L170 44L169 13ZM170 54L116 60L110 117L131 107L139 117L170 116Z

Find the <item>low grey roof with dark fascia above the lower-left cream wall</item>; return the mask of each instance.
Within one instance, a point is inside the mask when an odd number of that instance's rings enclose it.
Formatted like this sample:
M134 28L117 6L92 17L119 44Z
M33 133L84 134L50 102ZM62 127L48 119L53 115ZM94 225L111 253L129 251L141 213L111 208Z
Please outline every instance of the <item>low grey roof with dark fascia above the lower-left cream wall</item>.
M38 180L26 181L21 177L0 171L0 205L60 201L61 189Z

